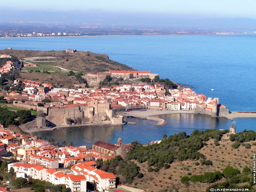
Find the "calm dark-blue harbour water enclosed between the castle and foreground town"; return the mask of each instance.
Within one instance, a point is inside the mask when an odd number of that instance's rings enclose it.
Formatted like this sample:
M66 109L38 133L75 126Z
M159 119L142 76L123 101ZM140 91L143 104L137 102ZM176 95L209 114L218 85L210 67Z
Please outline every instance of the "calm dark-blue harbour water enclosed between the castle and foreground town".
M147 144L155 140L162 140L163 133L168 136L174 133L185 131L190 134L195 129L228 129L232 123L231 120L224 118L211 118L208 115L201 114L167 114L157 115L156 117L163 118L167 121L164 126L156 127L156 121L142 120L136 118L124 118L125 121L133 121L138 124L127 124L124 126L106 126L106 127L72 127L56 131L46 131L34 133L37 136L55 138L56 142L65 140L67 143L72 141L74 146L86 145L91 147L92 143L98 141L117 143L119 137L122 138L124 143L132 141L139 141ZM244 129L255 130L256 119L236 119L237 131ZM68 131L73 129L74 131Z

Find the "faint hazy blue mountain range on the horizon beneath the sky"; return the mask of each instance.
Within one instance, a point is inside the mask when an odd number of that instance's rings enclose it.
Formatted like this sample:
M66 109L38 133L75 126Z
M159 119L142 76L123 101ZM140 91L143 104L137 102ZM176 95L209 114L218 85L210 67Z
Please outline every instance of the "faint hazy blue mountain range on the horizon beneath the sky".
M88 12L38 12L1 10L0 22L33 21L60 23L89 23L104 25L150 26L149 28L204 28L232 31L256 31L256 19L249 18L205 18L175 19L172 16L142 13L110 13L100 10ZM1 29L0 29L1 30Z

